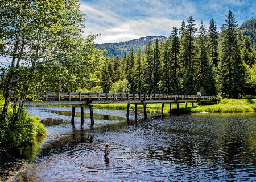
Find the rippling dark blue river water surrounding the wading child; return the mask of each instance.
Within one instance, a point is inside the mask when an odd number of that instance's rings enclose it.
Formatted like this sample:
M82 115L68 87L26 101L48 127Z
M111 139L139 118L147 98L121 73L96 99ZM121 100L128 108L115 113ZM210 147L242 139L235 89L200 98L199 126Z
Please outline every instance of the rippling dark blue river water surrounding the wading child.
M80 109L77 109L79 111ZM66 112L65 112L66 111ZM254 181L256 113L143 116L94 109L80 125L71 108L29 107L47 136L20 149L15 181ZM85 109L89 113L89 110ZM103 159L105 143L112 152ZM18 155L18 154L17 154Z

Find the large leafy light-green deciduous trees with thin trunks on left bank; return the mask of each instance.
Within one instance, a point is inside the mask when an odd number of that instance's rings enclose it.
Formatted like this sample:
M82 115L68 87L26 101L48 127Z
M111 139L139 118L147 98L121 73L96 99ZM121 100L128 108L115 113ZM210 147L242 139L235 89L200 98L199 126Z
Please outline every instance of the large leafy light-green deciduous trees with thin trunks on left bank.
M19 115L28 95L97 82L104 52L95 48L94 35L83 35L86 19L79 1L0 1L0 56L11 57L10 66L1 70L2 120L10 91L21 98Z

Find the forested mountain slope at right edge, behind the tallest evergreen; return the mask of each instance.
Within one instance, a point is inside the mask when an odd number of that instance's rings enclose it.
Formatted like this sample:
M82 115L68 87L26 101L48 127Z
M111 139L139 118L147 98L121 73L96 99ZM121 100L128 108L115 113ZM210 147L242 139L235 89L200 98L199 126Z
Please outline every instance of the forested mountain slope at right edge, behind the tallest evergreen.
M251 45L256 49L256 19L252 18L244 22L240 29L242 30L243 36L249 36L251 40Z

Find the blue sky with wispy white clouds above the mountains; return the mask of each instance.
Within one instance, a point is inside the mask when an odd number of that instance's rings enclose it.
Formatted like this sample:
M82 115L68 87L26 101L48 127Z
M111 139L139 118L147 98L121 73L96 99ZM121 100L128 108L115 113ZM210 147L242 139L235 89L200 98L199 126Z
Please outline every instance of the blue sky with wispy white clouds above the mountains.
M209 27L213 18L217 28L231 10L238 25L256 18L255 0L81 0L86 14L85 34L100 33L96 43L129 41L150 35L169 36L193 16L196 26L203 20Z

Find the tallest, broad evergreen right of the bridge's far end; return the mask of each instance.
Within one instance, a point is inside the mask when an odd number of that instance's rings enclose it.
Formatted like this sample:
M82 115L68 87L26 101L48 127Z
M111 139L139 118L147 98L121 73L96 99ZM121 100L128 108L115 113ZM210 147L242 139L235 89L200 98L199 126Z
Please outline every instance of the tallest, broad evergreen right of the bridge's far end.
M245 66L240 53L237 20L232 11L221 28L221 63L219 84L222 96L238 98L245 86Z

